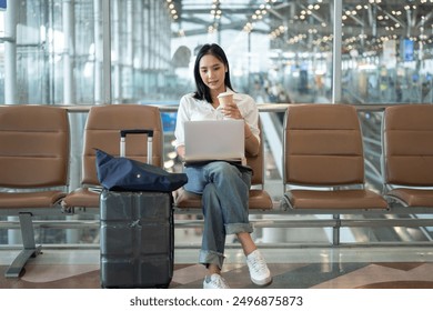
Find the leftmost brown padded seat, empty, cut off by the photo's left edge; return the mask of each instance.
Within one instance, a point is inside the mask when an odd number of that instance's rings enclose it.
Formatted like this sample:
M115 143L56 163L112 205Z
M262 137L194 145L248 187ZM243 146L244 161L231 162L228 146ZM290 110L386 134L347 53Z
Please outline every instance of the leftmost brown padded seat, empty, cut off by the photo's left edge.
M0 108L0 187L16 189L0 193L0 209L54 207L66 195L68 165L66 109L23 104ZM52 187L63 189L47 190ZM41 190L28 190L38 188Z

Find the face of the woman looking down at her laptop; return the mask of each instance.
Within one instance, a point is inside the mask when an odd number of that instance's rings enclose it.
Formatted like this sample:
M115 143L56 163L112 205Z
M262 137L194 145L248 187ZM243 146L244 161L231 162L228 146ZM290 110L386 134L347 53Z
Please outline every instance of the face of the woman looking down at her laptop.
M211 54L205 54L200 60L200 77L203 83L211 90L211 93L225 92L225 71L223 62Z

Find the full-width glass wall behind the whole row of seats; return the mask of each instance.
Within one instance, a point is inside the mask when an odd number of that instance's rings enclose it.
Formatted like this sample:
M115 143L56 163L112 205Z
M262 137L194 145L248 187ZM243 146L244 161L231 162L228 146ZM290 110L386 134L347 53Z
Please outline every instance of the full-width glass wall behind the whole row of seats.
M432 1L364 2L341 3L342 60L336 64L342 70L341 100L431 102ZM0 87L13 82L16 91L1 92L1 103L107 102L102 96L104 6L110 6L111 16L113 103L175 102L192 91L191 63L204 42L218 42L226 50L236 89L258 101L332 101L334 1L7 3L13 17L8 18L8 10L0 12ZM6 66L10 61L13 69Z

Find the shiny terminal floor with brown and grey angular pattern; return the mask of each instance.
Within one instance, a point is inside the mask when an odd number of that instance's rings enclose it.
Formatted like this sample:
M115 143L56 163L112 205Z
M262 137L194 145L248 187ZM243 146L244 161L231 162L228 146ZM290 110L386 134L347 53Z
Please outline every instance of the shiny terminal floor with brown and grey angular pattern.
M4 270L17 251L0 251L0 288L98 289L99 251L47 249L31 259L20 279ZM175 251L171 289L200 289L205 270L194 263L198 250ZM433 288L433 250L429 247L262 249L273 282L266 289ZM230 249L223 274L232 288L256 288L243 254Z

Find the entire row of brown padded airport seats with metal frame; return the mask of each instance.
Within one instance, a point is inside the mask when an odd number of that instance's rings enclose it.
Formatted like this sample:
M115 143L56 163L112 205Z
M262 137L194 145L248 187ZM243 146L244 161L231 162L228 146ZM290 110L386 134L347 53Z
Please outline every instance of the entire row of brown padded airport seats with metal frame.
M81 187L68 190L69 121L61 107L10 106L0 108L0 215L18 217L23 249L6 272L17 278L36 245L34 215L99 213L100 184L94 149L119 154L119 131L153 129L152 163L163 165L163 129L157 107L95 106L84 128ZM248 156L254 174L251 213L340 214L433 211L433 106L403 104L384 111L384 193L365 188L363 140L356 109L351 104L291 104L283 132L284 193L272 201L264 190L263 143ZM263 137L262 137L263 139ZM145 137L128 138L128 157L147 161ZM201 198L175 191L174 209L198 213ZM336 223L335 222L335 223ZM334 243L335 244L335 243Z

